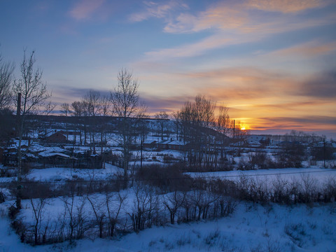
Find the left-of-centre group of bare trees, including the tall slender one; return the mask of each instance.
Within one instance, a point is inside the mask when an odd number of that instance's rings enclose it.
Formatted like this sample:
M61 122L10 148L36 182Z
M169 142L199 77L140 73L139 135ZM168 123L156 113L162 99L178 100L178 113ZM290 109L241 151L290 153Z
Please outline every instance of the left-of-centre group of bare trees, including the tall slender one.
M144 139L144 136L147 134L146 124L144 124L146 106L139 102L138 87L139 82L132 76L132 73L127 71L127 69L120 69L118 73L118 85L110 92L109 96L104 96L97 91L90 90L81 101L73 102L71 105L67 103L61 105L61 112L64 116L72 114L73 116L87 119L87 122L83 124L84 143L87 138L86 132L88 132L90 134L90 146L93 148L93 153L96 153L95 136L97 132L100 134L101 152L103 153L104 144L108 140L106 137L107 132L116 131L117 137L113 138L113 141L123 148L122 156L125 181L128 179L127 171L130 162L130 147L134 144L136 137L140 136L141 139ZM113 125L113 128L111 125L98 125L97 116L115 116L116 124ZM99 129L97 128L98 126ZM81 139L80 134L80 142Z

